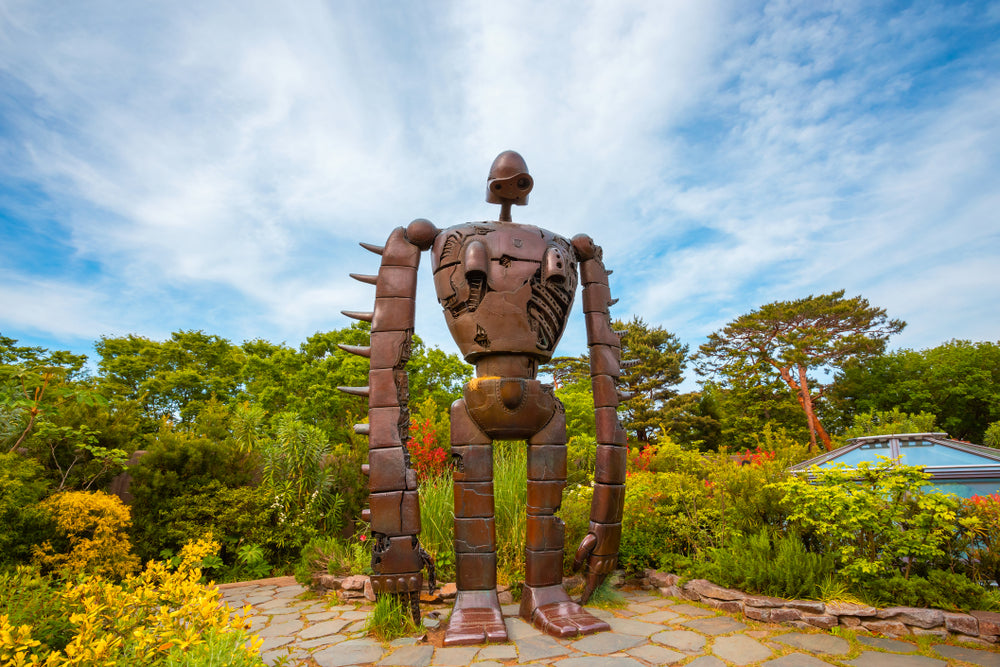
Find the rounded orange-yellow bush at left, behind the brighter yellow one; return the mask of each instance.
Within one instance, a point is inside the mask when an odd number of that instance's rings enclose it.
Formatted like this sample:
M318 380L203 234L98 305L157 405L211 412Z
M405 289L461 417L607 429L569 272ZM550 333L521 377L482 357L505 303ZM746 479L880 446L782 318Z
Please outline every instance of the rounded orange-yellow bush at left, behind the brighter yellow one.
M55 522L58 538L32 550L38 565L71 574L120 579L139 566L128 539L129 509L103 491L67 491L41 503Z

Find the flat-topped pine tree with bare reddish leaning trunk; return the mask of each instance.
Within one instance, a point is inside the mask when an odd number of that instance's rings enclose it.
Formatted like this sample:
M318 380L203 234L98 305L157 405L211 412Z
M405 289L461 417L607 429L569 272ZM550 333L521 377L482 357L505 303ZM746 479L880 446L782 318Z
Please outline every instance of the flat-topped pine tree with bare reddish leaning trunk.
M711 374L738 375L765 368L777 374L805 413L812 447L819 438L829 450L830 436L816 410L829 385L819 377L881 354L889 336L904 326L861 296L845 299L844 290L776 301L710 335L701 346L701 366Z

